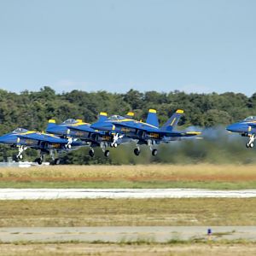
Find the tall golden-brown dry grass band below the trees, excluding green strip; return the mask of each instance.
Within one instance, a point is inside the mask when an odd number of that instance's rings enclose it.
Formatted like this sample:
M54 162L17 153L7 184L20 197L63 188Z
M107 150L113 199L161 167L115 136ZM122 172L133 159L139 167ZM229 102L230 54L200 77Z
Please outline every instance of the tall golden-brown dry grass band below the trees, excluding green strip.
M256 180L256 166L232 165L150 165L150 166L34 166L30 168L1 168L2 180L88 180L114 181L127 179L145 180L187 180L187 181L247 181Z

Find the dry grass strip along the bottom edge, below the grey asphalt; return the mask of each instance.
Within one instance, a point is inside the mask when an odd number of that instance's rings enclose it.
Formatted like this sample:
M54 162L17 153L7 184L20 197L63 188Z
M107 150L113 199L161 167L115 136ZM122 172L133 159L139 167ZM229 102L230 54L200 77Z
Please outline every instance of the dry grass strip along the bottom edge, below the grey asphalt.
M241 256L255 255L255 245L149 245L149 246L119 246L105 244L44 244L44 245L1 245L0 255L4 256Z

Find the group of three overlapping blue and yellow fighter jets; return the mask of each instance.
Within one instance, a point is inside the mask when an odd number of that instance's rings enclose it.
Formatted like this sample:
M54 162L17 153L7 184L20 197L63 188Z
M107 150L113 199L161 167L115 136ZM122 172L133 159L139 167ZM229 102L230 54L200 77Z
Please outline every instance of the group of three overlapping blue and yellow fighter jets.
M148 145L151 154L158 154L157 145L170 143L184 138L199 137L200 131L177 131L176 126L183 115L183 110L177 109L176 113L162 126L154 109L148 110L145 122L134 119L134 113L129 112L125 116L100 113L93 124L84 123L81 119L67 119L61 124L56 124L55 119L49 119L46 132L28 131L17 128L0 137L0 143L12 148L18 148L17 160L23 159L26 148L39 151L35 160L38 165L44 161L44 155L49 154L55 164L60 163L60 154L69 152L84 146L90 148L91 157L95 155L94 148L102 148L106 157L109 156L109 148L117 148L120 144L136 143L134 154L141 152L141 145Z

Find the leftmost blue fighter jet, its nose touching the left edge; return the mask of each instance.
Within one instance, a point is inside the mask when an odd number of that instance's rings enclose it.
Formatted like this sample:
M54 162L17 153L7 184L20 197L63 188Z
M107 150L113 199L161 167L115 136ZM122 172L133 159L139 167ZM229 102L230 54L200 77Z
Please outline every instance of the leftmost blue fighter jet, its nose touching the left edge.
M18 148L19 153L16 155L18 160L23 159L23 152L27 148L40 150L40 157L35 160L38 165L43 163L44 154L50 154L55 164L59 164L60 160L59 158L55 158L55 153L59 154L63 151L77 149L84 145L79 141L69 143L67 139L38 131L28 131L23 128L17 128L15 131L4 134L0 137L0 143L8 144L12 148Z

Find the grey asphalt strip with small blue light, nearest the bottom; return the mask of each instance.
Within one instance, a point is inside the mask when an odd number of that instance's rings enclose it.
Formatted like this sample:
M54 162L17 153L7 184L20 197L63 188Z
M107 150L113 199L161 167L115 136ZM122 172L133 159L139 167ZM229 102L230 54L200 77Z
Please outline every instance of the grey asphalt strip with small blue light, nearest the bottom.
M207 235L211 228L212 235ZM109 226L109 227L52 227L52 228L0 228L2 242L34 241L156 241L201 239L218 241L222 239L244 239L256 241L255 226Z

